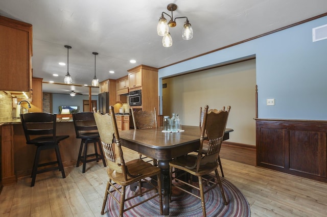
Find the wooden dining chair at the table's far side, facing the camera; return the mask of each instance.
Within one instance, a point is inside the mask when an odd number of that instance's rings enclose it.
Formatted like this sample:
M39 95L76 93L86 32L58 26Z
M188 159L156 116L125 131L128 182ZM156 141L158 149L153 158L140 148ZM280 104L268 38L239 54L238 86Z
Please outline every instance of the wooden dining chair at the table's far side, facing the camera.
M156 108L153 108L153 111L143 111L138 110L134 112L131 110L132 118L133 118L133 125L134 129L148 129L148 128L157 128L157 113ZM142 154L139 154L139 159L145 159L148 158L147 156L142 157ZM157 160L153 160L153 165L157 165ZM149 162L148 161L148 162Z

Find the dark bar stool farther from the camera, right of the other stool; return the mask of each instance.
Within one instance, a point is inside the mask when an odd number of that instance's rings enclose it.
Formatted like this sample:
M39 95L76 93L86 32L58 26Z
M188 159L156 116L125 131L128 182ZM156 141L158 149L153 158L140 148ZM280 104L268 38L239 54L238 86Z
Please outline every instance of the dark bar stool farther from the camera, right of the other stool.
M73 113L73 120L74 120L76 138L81 139L81 145L80 145L80 150L78 152L76 167L79 167L80 161L82 161L83 162L82 173L85 173L86 162L91 162L91 161L99 162L100 159L102 159L103 166L107 167L102 151L102 146L100 143L98 128L96 125L96 121L94 119L94 113L93 112ZM94 144L95 153L87 154L88 144L92 144L92 143ZM98 153L97 144L100 150L100 154ZM84 155L82 156L83 146L84 146Z

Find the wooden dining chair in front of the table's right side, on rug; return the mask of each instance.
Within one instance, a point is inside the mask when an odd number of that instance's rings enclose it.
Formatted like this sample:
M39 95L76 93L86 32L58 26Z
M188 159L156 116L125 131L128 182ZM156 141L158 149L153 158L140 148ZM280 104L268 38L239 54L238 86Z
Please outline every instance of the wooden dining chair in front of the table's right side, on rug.
M227 111L208 111L208 105L206 105L203 114L198 154L188 154L186 156L176 157L169 162L170 189L174 186L185 193L189 193L201 199L203 216L206 216L204 194L215 188L217 185L220 187L224 204L227 205L224 189L217 170L219 167L217 158L219 156L228 120L228 111L229 109L227 109ZM205 138L207 139L205 140ZM205 154L202 153L204 144L207 146ZM176 169L178 169L178 174L175 173ZM180 171L183 171L183 173L180 173ZM215 172L215 176L211 175L212 172ZM183 179L185 174L197 176L198 182L193 183L192 179L185 181ZM196 189L197 192L192 192L190 188ZM170 194L170 200L171 195L172 194Z

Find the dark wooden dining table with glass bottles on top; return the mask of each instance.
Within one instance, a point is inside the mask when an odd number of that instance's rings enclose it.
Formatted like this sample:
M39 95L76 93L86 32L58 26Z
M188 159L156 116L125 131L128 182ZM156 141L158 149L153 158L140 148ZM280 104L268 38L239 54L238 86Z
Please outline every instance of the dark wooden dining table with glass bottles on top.
M169 215L169 161L199 148L201 127L183 125L182 129L181 132L162 132L163 127L119 131L122 146L158 160L164 215ZM226 128L223 140L229 139L231 131Z

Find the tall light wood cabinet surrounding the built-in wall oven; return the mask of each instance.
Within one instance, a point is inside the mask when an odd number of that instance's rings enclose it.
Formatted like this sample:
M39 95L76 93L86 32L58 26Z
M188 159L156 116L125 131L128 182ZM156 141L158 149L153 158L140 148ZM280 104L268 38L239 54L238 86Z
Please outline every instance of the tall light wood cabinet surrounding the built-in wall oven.
M158 69L151 66L139 65L127 71L129 91L142 90L142 105L131 106L131 108L152 111L155 107L159 111Z

